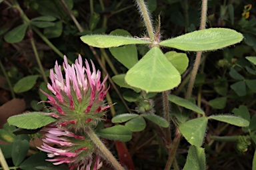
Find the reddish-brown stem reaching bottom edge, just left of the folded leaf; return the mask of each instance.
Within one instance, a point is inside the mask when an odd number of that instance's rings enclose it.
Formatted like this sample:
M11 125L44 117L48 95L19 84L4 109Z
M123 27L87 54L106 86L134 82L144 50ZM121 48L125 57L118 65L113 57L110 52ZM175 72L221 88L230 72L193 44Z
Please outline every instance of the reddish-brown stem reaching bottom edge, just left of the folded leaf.
M175 153L177 151L177 148L179 147L180 140L181 140L181 132L179 131L179 129L176 129L176 135L173 140L173 145L171 145L171 151L169 152L169 157L165 165L165 170L171 169L171 165L173 164L173 160L175 159Z

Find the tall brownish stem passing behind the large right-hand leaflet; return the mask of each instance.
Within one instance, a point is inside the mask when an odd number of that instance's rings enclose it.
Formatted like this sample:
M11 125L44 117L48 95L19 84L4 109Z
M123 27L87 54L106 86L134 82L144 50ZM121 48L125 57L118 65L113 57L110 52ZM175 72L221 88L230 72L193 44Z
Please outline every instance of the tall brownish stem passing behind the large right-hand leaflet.
M200 30L205 29L207 19L207 0L202 0L202 9L201 9L201 24ZM193 70L191 72L191 78L189 80L189 86L187 88L186 98L190 98L192 94L192 89L195 83L195 77L197 76L197 71L201 62L202 52L198 51L197 56L195 57L195 64L193 66Z

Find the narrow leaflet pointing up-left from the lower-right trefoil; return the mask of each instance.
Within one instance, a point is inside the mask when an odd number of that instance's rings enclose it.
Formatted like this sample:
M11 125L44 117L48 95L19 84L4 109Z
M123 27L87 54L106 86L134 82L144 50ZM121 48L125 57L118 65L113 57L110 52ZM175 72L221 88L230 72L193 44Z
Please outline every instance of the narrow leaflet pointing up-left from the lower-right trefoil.
M203 112L203 110L201 110L201 108L199 108L198 106L196 106L195 104L193 104L192 102L189 102L189 100L183 99L183 98L179 98L178 96L174 96L169 94L169 100L179 106L183 106L184 108L187 108L189 110L193 110L194 112L197 112L199 114L203 114L205 115L205 112Z

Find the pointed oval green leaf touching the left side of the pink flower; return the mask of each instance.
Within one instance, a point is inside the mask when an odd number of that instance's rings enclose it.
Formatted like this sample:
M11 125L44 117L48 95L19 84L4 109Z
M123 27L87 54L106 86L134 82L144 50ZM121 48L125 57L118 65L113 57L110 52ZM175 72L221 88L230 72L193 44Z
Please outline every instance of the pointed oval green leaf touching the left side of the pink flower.
M8 118L7 122L23 129L37 129L55 122L56 119L41 112L19 114Z

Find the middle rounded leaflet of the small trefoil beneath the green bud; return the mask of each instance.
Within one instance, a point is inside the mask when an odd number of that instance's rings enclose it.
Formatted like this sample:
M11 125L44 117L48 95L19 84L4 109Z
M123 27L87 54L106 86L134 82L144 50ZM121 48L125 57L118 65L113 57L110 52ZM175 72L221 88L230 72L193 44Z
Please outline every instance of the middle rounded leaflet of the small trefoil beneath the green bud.
M129 120L125 126L131 131L142 131L146 128L146 122L141 116L138 116L137 118Z

